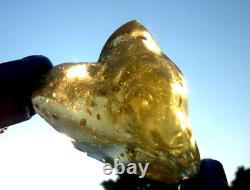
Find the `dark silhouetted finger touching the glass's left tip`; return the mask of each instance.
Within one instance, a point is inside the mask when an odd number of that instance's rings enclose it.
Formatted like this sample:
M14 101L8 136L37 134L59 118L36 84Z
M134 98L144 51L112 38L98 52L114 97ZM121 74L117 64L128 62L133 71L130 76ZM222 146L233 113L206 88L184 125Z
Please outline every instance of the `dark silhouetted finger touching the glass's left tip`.
M29 56L0 64L0 128L34 115L31 94L52 67L44 56Z

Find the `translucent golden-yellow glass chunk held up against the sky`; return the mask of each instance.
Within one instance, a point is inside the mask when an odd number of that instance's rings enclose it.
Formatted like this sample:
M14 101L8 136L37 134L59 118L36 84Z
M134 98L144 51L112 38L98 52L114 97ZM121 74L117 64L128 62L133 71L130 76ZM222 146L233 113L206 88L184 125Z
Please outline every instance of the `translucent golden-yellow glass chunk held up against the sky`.
M111 35L97 63L55 66L32 101L97 160L150 163L146 176L167 183L199 171L183 75L136 21Z

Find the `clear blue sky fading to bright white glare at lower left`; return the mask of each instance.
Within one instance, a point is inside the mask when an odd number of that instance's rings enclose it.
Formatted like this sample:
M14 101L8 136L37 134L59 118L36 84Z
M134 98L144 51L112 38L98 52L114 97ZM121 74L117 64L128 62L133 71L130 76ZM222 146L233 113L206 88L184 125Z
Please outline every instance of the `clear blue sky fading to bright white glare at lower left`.
M32 54L55 65L96 61L114 30L139 20L186 77L202 158L221 161L231 181L238 166L250 167L249 10L244 0L1 0L0 62ZM4 189L101 189L102 165L62 139L39 116L1 135Z

